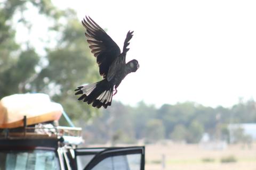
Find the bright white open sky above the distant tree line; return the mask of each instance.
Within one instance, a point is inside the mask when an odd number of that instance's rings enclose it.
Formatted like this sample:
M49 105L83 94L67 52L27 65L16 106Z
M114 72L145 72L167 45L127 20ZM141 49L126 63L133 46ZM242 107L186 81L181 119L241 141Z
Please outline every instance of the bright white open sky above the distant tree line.
M121 49L134 31L126 61L135 58L140 68L115 100L230 107L239 97L256 99L256 1L53 2L74 8L79 20L89 15Z

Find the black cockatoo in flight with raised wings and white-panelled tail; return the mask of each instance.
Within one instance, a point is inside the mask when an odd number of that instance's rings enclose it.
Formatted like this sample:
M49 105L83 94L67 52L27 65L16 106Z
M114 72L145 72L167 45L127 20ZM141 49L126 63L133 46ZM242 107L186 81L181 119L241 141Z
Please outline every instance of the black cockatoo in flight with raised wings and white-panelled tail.
M124 40L123 52L117 46L115 41L95 23L90 16L85 16L82 24L86 29L85 36L89 43L92 54L97 58L99 73L103 80L77 87L75 95L82 95L78 100L83 100L93 107L107 108L111 105L112 97L117 92L117 87L131 72L139 69L137 60L131 60L126 63L125 57L129 48L129 41L132 38L133 31L128 31Z

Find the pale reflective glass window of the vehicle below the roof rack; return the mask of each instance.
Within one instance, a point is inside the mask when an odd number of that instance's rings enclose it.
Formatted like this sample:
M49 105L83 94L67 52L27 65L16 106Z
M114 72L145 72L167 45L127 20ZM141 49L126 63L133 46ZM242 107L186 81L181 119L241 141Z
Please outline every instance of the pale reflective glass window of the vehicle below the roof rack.
M60 169L53 150L0 150L0 169Z

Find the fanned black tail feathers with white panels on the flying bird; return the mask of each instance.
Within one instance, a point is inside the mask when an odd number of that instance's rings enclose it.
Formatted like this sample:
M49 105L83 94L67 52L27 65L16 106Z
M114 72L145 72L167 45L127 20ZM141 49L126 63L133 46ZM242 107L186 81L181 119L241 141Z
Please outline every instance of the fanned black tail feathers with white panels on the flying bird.
M99 82L77 87L75 95L82 95L78 100L83 100L87 104L92 104L93 107L100 108L101 106L107 108L111 105L113 96L113 86L103 79Z

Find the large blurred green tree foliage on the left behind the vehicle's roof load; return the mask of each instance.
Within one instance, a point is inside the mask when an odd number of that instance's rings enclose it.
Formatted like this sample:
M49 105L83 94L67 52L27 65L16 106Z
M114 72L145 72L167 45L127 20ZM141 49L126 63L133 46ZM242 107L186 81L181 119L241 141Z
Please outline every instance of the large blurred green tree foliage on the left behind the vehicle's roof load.
M31 8L36 8L37 13ZM42 40L45 54L38 54L35 50L38 46L29 38L22 45L15 42L17 24L28 30L28 37L33 30L27 12L29 16L41 15L49 21L49 25L42 24L51 35L45 35L48 39ZM62 104L71 118L89 118L98 113L98 109L78 102L74 96L77 86L100 77L95 58L86 45L84 28L73 10L59 10L50 0L3 1L0 32L0 98L43 92Z

